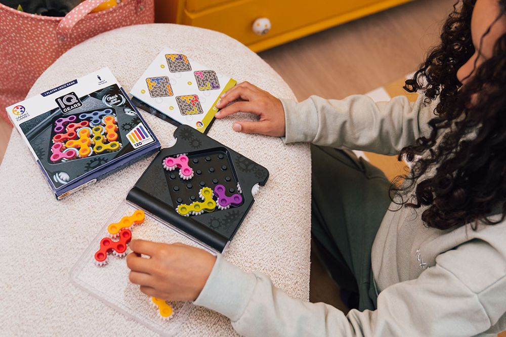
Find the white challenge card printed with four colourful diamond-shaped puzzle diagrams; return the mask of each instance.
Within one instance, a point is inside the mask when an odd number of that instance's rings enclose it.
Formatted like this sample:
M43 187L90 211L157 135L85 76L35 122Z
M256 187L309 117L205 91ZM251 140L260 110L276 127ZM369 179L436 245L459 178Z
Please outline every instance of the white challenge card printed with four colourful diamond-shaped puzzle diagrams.
M206 133L218 112L218 98L236 83L185 54L164 48L130 94L148 112Z

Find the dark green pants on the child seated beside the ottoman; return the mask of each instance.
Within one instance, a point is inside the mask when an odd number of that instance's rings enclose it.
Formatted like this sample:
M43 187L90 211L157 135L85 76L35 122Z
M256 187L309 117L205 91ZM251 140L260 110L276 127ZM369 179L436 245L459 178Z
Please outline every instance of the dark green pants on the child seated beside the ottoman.
M311 146L311 232L323 263L360 311L376 309L371 248L390 204L389 181L352 151Z

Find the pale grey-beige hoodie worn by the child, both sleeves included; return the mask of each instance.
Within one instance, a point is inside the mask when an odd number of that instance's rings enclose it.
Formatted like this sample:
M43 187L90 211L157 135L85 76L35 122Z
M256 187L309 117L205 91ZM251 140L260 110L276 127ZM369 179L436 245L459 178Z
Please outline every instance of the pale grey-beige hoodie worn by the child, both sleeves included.
M434 117L423 96L414 103L402 96L374 103L363 95L282 103L285 143L383 154L428 135ZM506 329L506 221L439 230L424 226L424 208L398 208L391 204L372 246L374 311L344 315L291 299L267 275L245 273L221 255L195 304L251 336L472 336Z

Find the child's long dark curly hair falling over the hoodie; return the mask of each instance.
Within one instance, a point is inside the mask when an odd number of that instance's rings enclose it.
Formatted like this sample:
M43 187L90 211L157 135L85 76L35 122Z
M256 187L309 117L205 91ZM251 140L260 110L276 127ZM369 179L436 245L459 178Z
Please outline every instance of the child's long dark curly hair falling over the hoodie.
M412 162L411 170L393 180L390 197L401 207L427 206L421 219L439 229L468 223L476 229L478 222L494 225L506 216L506 34L496 41L491 58L479 67L475 62L465 86L456 76L475 53L471 38L475 3L463 0L453 6L441 44L404 86L410 93L424 94L426 104L437 98L439 102L436 117L429 121L430 135L399 153L399 160L405 156ZM506 1L499 5L494 23L506 14ZM481 37L480 49L491 26ZM491 221L497 206L502 217Z

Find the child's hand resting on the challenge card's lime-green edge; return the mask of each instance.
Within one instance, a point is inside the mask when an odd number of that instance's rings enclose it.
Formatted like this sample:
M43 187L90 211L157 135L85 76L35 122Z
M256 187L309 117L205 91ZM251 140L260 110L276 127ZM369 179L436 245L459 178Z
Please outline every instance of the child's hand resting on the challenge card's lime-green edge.
M243 101L228 103L237 99ZM250 112L260 116L259 121L240 121L233 125L235 131L246 134L262 134L281 137L285 134L284 109L281 101L268 92L251 85L248 82L239 83L225 92L216 104L218 111L216 118L223 118L236 112Z

